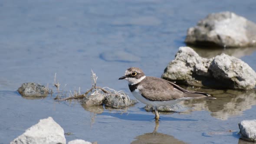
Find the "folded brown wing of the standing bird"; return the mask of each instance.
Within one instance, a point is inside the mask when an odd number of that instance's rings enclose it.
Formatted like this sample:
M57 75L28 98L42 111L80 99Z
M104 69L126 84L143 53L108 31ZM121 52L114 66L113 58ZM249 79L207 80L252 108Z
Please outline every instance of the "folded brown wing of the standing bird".
M155 77L146 77L140 85L143 87L139 87L141 95L153 101L168 101L177 98L205 98L210 96L210 94L204 92L188 91L173 82Z

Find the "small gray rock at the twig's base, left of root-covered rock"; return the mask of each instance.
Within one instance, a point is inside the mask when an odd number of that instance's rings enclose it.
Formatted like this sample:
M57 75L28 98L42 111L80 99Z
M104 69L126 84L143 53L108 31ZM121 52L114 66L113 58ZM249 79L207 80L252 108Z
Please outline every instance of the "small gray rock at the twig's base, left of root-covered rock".
M81 104L86 106L102 105L104 98L105 98L105 95L101 93L98 93L96 95L89 95L81 100Z

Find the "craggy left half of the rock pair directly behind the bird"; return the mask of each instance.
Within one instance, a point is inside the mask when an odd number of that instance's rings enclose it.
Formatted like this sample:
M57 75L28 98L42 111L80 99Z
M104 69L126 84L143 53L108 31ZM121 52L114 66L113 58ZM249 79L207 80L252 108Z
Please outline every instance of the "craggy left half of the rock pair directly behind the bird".
M171 61L162 75L163 79L176 81L181 84L194 86L203 86L200 79L196 79L194 75L200 78L210 77L208 71L212 59L200 57L190 47L180 47L175 55L175 59Z

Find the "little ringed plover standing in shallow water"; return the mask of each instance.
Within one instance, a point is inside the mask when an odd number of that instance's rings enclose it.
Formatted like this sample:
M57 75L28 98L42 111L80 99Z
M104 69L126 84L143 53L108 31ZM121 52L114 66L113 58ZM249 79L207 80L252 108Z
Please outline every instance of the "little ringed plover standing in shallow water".
M165 79L146 76L141 69L136 67L127 69L125 75L119 79L128 81L129 89L135 98L146 105L154 106L156 121L159 120L157 109L159 106L173 105L191 98L216 99L204 92L188 91Z

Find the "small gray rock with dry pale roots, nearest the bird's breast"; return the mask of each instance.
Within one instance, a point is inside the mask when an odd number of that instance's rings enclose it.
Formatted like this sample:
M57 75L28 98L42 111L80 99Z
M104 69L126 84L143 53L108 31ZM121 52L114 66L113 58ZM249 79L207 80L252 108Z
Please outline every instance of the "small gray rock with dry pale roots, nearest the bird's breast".
M136 104L138 101L129 100L128 97L121 97L119 95L108 95L103 102L106 107L126 108L128 106Z

